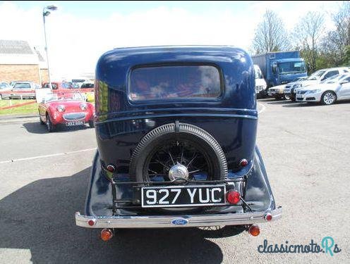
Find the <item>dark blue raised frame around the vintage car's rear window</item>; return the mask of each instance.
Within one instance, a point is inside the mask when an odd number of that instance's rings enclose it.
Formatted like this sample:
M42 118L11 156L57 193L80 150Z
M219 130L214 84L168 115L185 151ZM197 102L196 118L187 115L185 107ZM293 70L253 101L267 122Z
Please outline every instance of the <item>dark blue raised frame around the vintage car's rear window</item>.
M181 98L162 98L162 99L143 99L143 100L132 100L130 97L131 94L131 73L135 69L139 68L155 68L155 67L171 67L171 66L212 66L217 69L217 72L219 73L219 81L220 81L220 94L217 97L210 97L210 98L205 98L205 97L195 97L195 98L186 98L186 97L181 97ZM195 103L195 102L217 102L221 101L222 97L224 96L224 75L222 74L222 69L216 65L215 63L207 63L207 62L184 62L184 63L148 63L148 64L140 64L140 65L135 65L131 67L128 70L128 77L127 77L127 85L126 85L126 96L128 98L128 102L131 105L139 105L139 104L169 104L169 103Z

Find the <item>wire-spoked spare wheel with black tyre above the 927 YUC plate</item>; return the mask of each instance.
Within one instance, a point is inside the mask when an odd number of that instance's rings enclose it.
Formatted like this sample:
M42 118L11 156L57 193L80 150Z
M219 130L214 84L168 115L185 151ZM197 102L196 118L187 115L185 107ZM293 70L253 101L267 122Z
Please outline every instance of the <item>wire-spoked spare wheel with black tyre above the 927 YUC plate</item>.
M176 121L155 128L140 140L131 156L129 174L137 182L224 180L227 161L212 135Z

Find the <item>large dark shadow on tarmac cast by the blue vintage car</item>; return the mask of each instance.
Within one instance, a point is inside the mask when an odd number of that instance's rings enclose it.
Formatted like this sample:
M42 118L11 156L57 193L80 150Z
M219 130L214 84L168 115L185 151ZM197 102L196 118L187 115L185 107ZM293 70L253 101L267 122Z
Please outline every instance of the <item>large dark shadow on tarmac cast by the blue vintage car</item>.
M89 172L38 180L0 200L0 248L30 249L32 263L222 262L219 246L206 239L212 232L123 230L106 243L99 230L76 227Z

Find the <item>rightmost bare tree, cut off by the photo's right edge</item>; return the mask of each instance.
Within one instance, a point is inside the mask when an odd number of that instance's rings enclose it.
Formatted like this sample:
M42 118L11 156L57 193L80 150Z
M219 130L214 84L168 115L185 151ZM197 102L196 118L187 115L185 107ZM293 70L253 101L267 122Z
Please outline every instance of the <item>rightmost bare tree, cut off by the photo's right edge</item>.
M335 30L322 40L322 49L334 65L345 63L346 46L350 45L350 1L344 1L339 11L332 15Z

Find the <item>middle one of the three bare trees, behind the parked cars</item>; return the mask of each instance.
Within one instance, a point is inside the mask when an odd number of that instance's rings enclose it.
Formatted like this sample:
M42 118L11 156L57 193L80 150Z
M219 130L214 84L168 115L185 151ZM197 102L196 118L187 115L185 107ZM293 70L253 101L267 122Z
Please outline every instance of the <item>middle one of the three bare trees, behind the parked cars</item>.
M308 12L294 30L294 43L296 49L301 50L303 58L308 62L308 70L313 73L316 70L318 58L318 46L322 37L325 19L324 15L318 12Z

